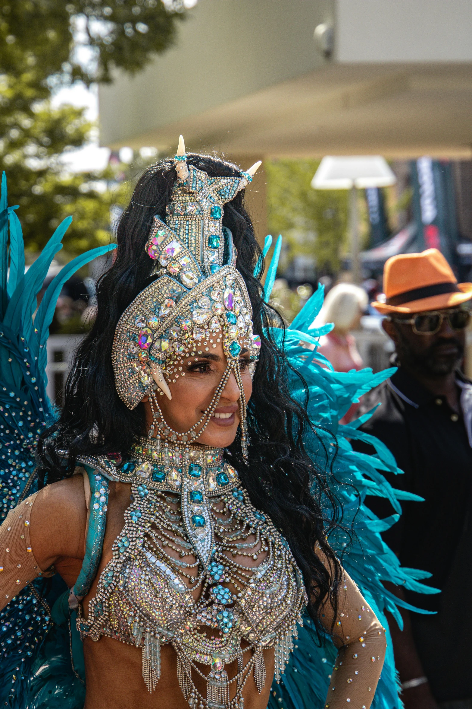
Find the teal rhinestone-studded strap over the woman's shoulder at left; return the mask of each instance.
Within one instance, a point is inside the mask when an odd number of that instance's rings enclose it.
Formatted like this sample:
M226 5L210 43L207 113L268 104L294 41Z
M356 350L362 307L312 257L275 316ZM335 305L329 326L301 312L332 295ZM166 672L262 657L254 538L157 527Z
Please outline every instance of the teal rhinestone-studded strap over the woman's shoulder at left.
M74 671L84 681L84 650L79 631L76 629L76 609L79 601L87 595L95 579L102 557L105 536L106 511L108 504L108 480L89 465L84 465L90 482L90 516L86 537L84 562L77 580L69 591L64 591L51 608L51 620L57 625L69 623L71 638L71 659Z

